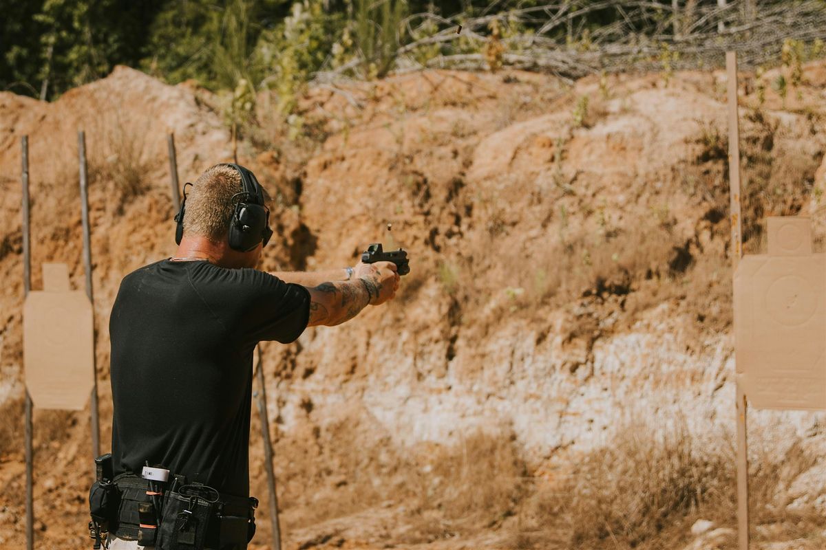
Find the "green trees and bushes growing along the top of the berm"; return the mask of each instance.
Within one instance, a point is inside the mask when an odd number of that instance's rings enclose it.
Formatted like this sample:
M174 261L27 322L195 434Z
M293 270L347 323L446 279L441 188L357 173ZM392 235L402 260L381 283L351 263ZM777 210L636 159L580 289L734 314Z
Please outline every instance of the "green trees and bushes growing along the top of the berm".
M483 54L491 70L507 53L536 47L534 33L548 23L543 0L0 0L0 89L50 97L109 73L124 63L177 83L195 79L222 91L232 112L241 81L254 96L278 92L278 112L292 112L305 82L320 70L359 78L382 78L396 66L398 49L440 35L438 43L406 52L427 66L440 55ZM652 21L668 26L667 2L652 2L644 21L629 20L620 5L589 9L586 0L566 0L567 19L542 36L579 52L592 51L618 25L640 40L652 35ZM694 2L696 3L696 2ZM767 7L779 0L763 2ZM662 7L661 7L662 6ZM512 10L523 10L519 16ZM414 14L408 16L408 14ZM547 13L549 16L550 13ZM558 14L559 15L559 14ZM468 18L483 16L463 33L444 33ZM490 24L488 26L488 24ZM487 26L487 29L485 28ZM468 27L470 24L468 23ZM680 59L663 42L653 59L666 83ZM785 78L797 87L802 64L824 54L823 40L786 40L781 51ZM476 58L478 59L478 58ZM607 96L602 85L601 92ZM249 103L249 94L244 92ZM253 101L254 103L254 101ZM243 109L241 109L243 110ZM254 109L253 109L254 110Z

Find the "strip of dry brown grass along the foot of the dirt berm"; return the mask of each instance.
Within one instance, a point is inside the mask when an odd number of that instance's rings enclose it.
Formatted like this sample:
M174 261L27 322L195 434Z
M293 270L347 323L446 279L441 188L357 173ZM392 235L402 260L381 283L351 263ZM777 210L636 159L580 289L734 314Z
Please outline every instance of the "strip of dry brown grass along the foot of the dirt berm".
M552 481L530 475L507 430L411 449L389 440L368 445L346 423L317 435L320 449L327 437L336 440L325 466L312 466L318 469L309 477L279 478L287 483L282 502L306 510L288 515L287 530L390 507L396 525L383 535L387 544L487 531L506 537L507 548L658 550L690 543L697 519L736 526L733 434L719 427L692 434L680 415L624 421L610 444L572 457L567 473ZM811 505L789 509L786 489L817 458L800 444L778 453L763 432L750 437L752 538L814 537L822 514ZM732 536L721 548L734 545Z

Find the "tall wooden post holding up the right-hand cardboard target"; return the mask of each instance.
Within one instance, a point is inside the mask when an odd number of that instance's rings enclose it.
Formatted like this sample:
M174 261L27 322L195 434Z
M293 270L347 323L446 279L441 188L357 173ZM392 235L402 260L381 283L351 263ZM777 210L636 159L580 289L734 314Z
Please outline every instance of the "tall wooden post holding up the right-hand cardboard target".
M731 200L732 277L743 255L740 216L740 123L737 102L737 54L725 54L729 75L729 194ZM737 393L737 530L739 550L748 550L748 402L736 378Z

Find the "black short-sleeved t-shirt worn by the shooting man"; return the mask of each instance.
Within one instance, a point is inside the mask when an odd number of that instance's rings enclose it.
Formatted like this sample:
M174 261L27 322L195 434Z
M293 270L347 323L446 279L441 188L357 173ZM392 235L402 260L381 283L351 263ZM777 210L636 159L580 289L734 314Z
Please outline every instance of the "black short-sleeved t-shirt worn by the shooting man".
M121 281L112 339L114 472L145 461L249 496L253 350L296 340L310 294L263 271L162 260Z

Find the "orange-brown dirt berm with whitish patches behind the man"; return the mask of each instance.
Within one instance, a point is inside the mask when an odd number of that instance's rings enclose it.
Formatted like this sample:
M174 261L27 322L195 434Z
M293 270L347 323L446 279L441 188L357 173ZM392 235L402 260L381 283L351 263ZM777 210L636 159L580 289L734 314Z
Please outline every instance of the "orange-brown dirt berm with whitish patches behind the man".
M742 79L745 249L765 247L765 216L805 214L822 251L826 66L806 66L785 100L765 84L773 75ZM572 511L536 505L538 495L582 488L577 476L595 457L632 460L610 450L629 437L656 448L680 434L692 457L730 456L724 92L720 72L567 86L534 73L428 71L311 89L293 119L297 139L274 123L245 135L239 160L274 200L263 269L353 265L370 242L412 258L394 303L263 346L287 548L621 548L613 530L575 521L554 539L550 510ZM33 288L42 262L64 261L83 289L76 132L86 131L106 451L112 301L123 275L175 249L167 133L182 183L230 160L214 105L197 87L124 67L54 103L0 92L2 548L25 543L21 136L31 148ZM818 510L824 416L754 411L750 421L755 463L809 457L767 502ZM88 410L36 411L34 433L37 548L85 548ZM259 433L254 415L264 548ZM659 530L705 548L689 527L710 498L668 508L673 529ZM733 527L733 511L721 514L707 519ZM777 529L759 537L789 538ZM643 535L632 535L622 540L638 546ZM714 536L733 544L728 530Z

